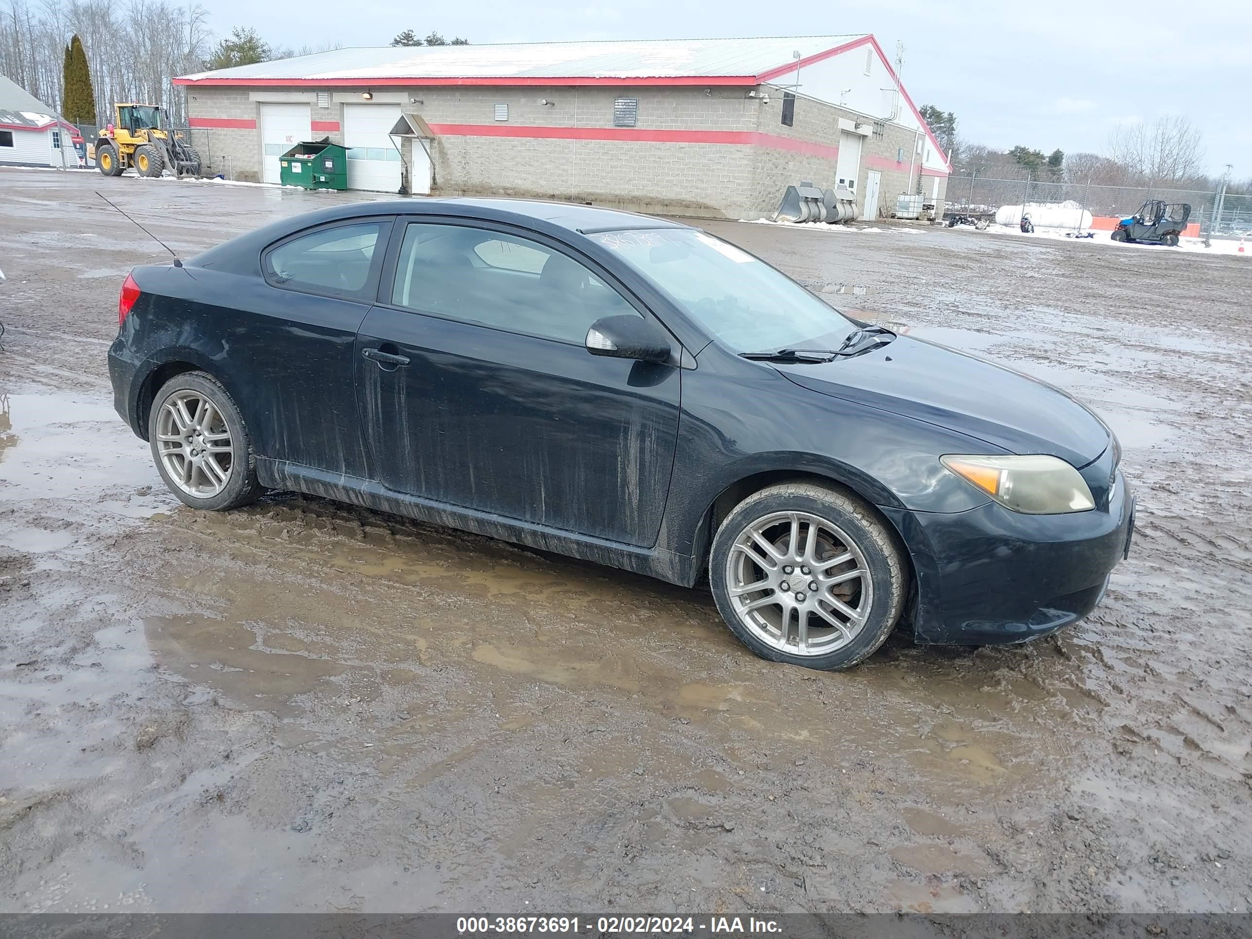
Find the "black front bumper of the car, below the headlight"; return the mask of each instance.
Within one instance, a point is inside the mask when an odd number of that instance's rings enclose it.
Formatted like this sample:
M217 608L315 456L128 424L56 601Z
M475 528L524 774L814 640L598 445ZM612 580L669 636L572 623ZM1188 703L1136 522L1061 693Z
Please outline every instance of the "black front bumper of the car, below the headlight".
M988 502L965 512L884 508L916 573L914 637L924 644L1025 642L1087 616L1129 547L1126 477L1090 512L1030 516Z

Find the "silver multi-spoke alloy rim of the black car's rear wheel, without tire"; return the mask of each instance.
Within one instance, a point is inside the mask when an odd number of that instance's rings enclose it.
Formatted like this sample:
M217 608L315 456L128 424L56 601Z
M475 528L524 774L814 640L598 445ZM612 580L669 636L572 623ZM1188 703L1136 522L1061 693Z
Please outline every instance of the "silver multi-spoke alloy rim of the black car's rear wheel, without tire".
M203 392L177 391L165 398L156 417L156 447L167 476L189 496L212 498L230 481L230 428Z

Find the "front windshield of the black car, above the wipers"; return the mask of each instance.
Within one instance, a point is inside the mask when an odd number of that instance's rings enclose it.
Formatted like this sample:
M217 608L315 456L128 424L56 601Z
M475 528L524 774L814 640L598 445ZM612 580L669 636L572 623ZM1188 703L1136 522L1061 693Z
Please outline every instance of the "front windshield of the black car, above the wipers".
M587 237L655 282L735 352L838 348L856 328L785 274L704 232L651 229Z

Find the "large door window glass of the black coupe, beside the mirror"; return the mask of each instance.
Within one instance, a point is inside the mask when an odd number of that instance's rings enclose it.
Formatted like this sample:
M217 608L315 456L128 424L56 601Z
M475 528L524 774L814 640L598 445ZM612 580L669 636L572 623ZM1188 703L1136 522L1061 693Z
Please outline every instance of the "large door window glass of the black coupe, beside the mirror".
M586 267L538 242L427 223L404 230L392 303L580 346L601 317L640 316Z

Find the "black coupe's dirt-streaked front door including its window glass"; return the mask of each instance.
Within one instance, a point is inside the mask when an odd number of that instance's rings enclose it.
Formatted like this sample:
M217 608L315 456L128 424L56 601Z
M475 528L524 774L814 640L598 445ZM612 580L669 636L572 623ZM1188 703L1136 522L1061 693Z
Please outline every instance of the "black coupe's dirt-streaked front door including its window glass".
M357 337L379 482L654 545L681 369L596 357L583 344L600 317L646 310L606 272L533 233L423 219L398 223L392 242L379 302Z

